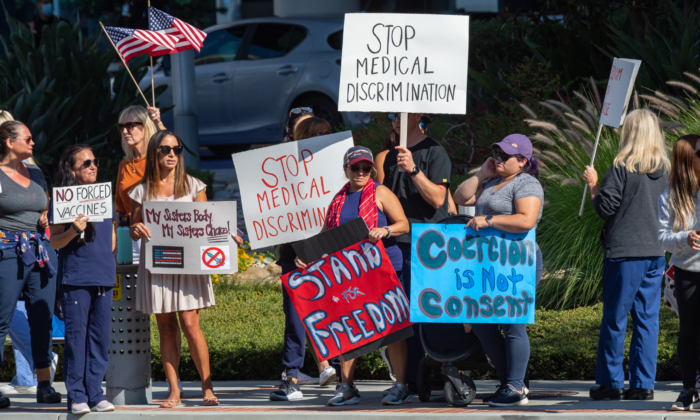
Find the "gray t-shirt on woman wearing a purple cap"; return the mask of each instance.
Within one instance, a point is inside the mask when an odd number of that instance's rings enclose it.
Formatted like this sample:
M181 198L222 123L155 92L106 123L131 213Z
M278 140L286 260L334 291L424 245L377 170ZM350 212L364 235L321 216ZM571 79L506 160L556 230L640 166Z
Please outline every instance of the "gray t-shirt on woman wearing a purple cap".
M484 191L476 201L474 214L476 216L510 216L515 214L515 201L525 197L537 197L544 203L544 191L540 181L530 174L519 174L511 179L500 190L494 192L494 188L501 183L501 177L490 178L484 181ZM537 215L537 224L542 218L542 205Z

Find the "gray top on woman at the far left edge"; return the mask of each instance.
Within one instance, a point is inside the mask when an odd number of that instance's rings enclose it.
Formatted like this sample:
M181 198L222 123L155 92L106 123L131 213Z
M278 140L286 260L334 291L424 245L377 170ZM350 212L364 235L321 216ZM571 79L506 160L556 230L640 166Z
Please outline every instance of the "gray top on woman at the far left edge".
M27 165L29 186L24 188L0 170L0 229L38 232L39 218L46 210L46 179L41 169Z

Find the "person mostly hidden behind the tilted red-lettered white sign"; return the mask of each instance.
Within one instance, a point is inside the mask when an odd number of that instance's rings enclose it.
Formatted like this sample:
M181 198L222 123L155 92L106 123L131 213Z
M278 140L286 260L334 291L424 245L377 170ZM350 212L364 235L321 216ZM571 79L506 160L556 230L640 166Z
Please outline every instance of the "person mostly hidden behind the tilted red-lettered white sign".
M293 138L296 140L305 140L321 135L319 133L328 134L330 130L331 125L326 120L306 117L296 125ZM277 264L282 268L282 275L296 270L294 260L297 254L292 247L293 244L294 243L282 244L278 249L277 255L279 256L279 260ZM299 371L299 369L304 366L304 356L306 355L306 330L284 288L282 288L282 309L284 311L282 365L284 365L285 369L284 373L282 373L282 383L279 389L270 393L270 400L294 401L303 398L303 393L299 385L315 383L316 379ZM337 369L331 366L328 361L318 363L318 384L322 387L328 386L337 378L337 372L340 370L340 362L337 358L334 358L331 359L331 363L333 363Z

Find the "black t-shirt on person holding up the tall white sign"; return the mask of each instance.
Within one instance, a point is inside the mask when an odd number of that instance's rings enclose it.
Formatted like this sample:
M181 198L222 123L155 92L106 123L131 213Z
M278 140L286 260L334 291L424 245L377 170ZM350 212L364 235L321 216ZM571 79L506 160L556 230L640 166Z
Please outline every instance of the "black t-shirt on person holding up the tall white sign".
M452 162L450 162L447 151L438 142L426 137L415 146L409 147L408 150L413 154L413 162L433 184L445 184L449 187ZM445 202L442 207L433 208L421 197L411 174L402 171L397 165L398 154L399 151L393 149L386 155L383 184L399 198L408 222L410 224L437 223L447 217L447 191L445 191ZM399 236L396 241L410 243L411 233Z

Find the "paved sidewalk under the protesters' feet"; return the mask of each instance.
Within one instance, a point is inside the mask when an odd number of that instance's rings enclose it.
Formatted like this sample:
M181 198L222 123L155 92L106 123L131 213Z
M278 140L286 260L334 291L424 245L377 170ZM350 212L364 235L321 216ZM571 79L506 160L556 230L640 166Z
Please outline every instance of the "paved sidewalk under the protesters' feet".
M54 384L64 394L63 383ZM587 381L533 381L530 404L508 409L494 409L481 402L481 398L496 389L495 381L477 381L477 399L467 408L447 405L441 392L434 392L428 403L421 403L417 396L413 402L402 406L383 406L382 391L389 386L386 381L360 381L356 385L362 396L361 403L348 407L327 407L326 402L333 396L334 386L320 388L316 385L302 388L304 399L296 402L271 402L268 395L277 387L274 381L215 382L214 389L221 405L202 406L202 391L197 382L185 382L183 406L174 409L160 409L156 400L167 397L166 384L153 384L154 403L147 406L117 407L113 413L91 413L83 419L136 420L145 417L156 419L254 419L279 420L283 417L328 419L333 413L334 420L387 420L402 419L601 419L624 418L635 420L663 420L679 418L689 413L672 413L669 406L675 401L681 389L680 382L657 382L654 401L604 401L596 402L588 398L588 390L593 386ZM12 406L0 410L0 418L13 420L77 419L68 414L65 403L60 406L37 404L33 395L10 395Z

